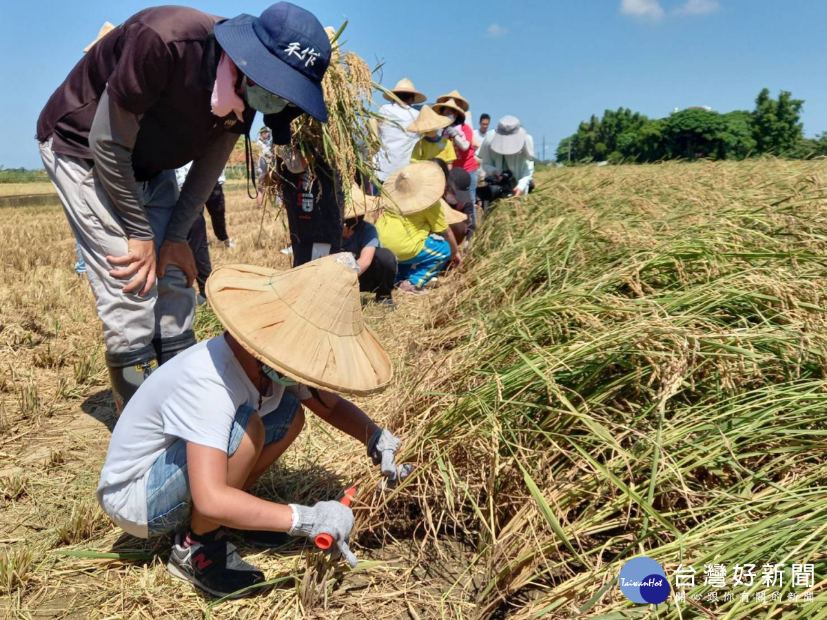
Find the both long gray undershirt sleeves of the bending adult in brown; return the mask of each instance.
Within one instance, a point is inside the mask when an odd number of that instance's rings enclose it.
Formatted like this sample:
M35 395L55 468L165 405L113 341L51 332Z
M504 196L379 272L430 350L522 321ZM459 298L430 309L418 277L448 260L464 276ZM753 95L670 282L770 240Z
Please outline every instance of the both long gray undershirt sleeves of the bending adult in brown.
M89 131L89 148L98 179L121 217L127 238L146 241L154 235L132 169L132 149L140 128L141 116L118 106L104 90ZM225 131L194 160L167 226L165 241L187 241L189 228L213 191L237 140L237 134Z

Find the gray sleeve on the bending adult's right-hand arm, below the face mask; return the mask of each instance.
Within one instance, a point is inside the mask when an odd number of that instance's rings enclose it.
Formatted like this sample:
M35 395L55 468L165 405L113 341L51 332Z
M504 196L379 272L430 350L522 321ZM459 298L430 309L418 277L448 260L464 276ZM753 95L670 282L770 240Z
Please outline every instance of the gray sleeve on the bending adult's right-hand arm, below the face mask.
M165 241L174 243L187 241L189 228L192 227L210 193L213 192L238 138L238 134L225 131L218 140L203 151L197 160L193 161L187 180L184 181L184 187L181 188L181 195L175 205L170 224L166 228Z

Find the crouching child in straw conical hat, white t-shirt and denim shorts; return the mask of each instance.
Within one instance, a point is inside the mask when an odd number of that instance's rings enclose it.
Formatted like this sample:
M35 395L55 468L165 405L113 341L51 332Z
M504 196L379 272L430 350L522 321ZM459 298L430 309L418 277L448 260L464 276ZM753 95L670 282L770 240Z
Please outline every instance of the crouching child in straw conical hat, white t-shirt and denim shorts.
M227 265L213 271L207 291L226 331L189 347L138 388L112 432L98 502L133 536L177 530L170 573L216 596L242 595L264 581L227 541L226 527L261 547L284 543L274 532L311 541L327 534L333 551L355 566L351 508L249 493L301 432L303 407L364 443L391 483L409 471L394 464L399 439L338 395L378 392L392 376L388 355L362 322L352 255L288 271Z

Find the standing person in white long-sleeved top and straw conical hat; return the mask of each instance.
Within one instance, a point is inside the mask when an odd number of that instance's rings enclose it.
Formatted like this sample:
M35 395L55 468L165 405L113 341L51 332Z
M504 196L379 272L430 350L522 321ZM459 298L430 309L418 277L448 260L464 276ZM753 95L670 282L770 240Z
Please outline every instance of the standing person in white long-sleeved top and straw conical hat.
M426 99L408 78L400 79L390 92L395 98L384 93L382 97L390 103L385 103L379 108L382 117L379 124L379 139L382 146L376 154L376 179L379 179L380 183L385 183L394 170L409 164L419 135L414 131L408 131L408 126L416 122L419 116L414 105L424 103Z

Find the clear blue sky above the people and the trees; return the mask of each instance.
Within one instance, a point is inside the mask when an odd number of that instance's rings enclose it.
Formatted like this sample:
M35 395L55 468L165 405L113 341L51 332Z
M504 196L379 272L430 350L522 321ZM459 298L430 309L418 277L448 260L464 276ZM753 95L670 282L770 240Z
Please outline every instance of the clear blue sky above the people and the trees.
M232 17L269 2L184 2ZM805 134L827 131L821 0L299 0L324 25L350 20L347 48L384 60L433 101L452 88L475 116L520 118L548 155L577 123L606 108L664 117L674 107L752 109L758 91L805 99ZM40 167L41 107L103 21L149 6L136 0L2 2L0 165ZM475 122L476 125L476 122Z

